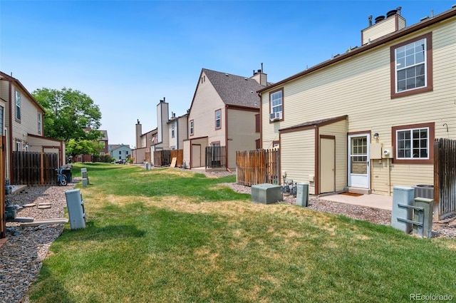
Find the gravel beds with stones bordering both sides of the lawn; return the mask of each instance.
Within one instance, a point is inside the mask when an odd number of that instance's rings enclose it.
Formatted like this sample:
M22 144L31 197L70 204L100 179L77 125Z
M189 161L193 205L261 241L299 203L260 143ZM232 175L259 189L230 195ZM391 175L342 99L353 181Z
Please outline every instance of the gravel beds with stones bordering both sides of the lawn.
M204 170L195 170L208 176L222 176L232 174L229 172L206 173ZM63 208L66 207L65 191L74 188L78 179L73 179L65 187L33 187L9 195L13 204L26 205L42 202L51 204L51 208L38 209L38 207L23 207L17 212L17 217L34 217L35 219L48 219L63 217ZM251 188L235 183L226 183L236 192L251 193ZM296 205L296 197L285 196L284 202ZM379 210L372 207L347 205L331 202L323 198L311 198L309 208L346 215L358 220L366 220L376 224L390 225L390 210ZM53 240L63 232L63 225L41 225L38 227L19 227L19 223L6 223L6 237L8 240L0 248L0 302L16 303L27 302L24 297L28 287L41 269L43 259L46 257ZM456 216L448 217L440 222L434 222L432 237L456 238Z

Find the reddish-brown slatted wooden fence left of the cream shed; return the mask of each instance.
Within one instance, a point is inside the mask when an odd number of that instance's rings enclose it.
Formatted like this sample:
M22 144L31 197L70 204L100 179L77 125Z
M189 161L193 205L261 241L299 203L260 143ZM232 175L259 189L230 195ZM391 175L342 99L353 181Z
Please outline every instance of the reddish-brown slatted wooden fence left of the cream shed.
M279 184L279 150L237 151L236 183L247 186Z

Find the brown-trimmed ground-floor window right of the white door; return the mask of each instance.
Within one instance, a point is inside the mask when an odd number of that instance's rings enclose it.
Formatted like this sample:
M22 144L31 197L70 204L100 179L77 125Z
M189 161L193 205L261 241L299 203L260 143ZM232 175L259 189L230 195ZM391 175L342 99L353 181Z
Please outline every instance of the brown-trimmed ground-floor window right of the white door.
M434 128L434 123L393 127L394 163L433 163Z

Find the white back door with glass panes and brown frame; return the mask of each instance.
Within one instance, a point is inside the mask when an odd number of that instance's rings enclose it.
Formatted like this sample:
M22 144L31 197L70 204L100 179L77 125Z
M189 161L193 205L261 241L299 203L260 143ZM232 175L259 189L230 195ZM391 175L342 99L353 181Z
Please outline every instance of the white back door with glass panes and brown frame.
M348 187L371 187L370 134L348 135Z

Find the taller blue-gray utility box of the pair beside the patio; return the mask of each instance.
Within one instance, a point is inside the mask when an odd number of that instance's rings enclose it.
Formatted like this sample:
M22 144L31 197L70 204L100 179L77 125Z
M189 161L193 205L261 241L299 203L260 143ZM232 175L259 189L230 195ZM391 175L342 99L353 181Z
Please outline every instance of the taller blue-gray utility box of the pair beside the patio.
M393 188L393 210L391 211L391 226L396 230L402 230L406 233L410 233L412 231L412 223L405 222L403 220L410 221L413 219L413 209L401 205L413 206L415 202L414 198L414 188L405 186L395 186Z

